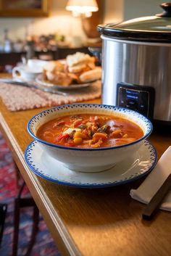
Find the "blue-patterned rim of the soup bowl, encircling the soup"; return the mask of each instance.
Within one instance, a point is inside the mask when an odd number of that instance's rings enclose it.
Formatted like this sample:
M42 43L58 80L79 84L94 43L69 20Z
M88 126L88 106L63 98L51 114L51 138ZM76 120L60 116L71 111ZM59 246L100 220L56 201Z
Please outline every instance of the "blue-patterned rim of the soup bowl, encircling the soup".
M116 109L116 110L123 110L125 112L132 112L134 115L137 115L141 118L143 118L147 123L149 123L149 132L146 133L145 136L141 137L140 139L136 140L136 141L133 141L133 142L130 142L128 144L124 144L124 145L120 145L120 146L110 146L110 147L102 147L102 148L95 148L95 149L86 149L86 148L75 148L75 147L70 147L70 146L60 146L60 145L55 145L55 144L51 144L47 141L43 141L42 139L39 139L37 136L35 136L32 131L30 131L30 125L31 123L33 122L33 119L35 119L36 117L38 117L38 115L43 115L43 114L46 114L46 112L49 112L51 110L60 110L60 109L63 109L63 108L66 108L66 107L76 107L76 106L92 106L92 107L99 107L99 108L106 108L106 109ZM133 145L135 143L138 143L139 141L143 141L144 139L146 139L152 132L153 130L153 125L151 123L151 121L145 117L144 115L141 115L140 113L138 112L135 112L133 110L128 110L124 107L116 107L116 106L112 106L112 105L106 105L106 104L84 104L84 103L78 103L78 104L65 104L65 105L61 105L61 106L58 106L58 107L53 107L53 108L50 108L48 110L43 110L42 112L39 112L38 114L34 115L30 121L28 122L28 125L27 125L27 130L28 130L28 133L30 134L30 136L33 137L33 139L35 139L36 141L39 141L41 142L42 144L46 144L48 146L52 146L52 147L55 147L55 148L59 148L59 149L70 149L70 150L81 150L81 151L101 151L101 150L109 150L109 149L119 149L119 148L122 148L122 147L125 147L125 146L130 146L130 145Z

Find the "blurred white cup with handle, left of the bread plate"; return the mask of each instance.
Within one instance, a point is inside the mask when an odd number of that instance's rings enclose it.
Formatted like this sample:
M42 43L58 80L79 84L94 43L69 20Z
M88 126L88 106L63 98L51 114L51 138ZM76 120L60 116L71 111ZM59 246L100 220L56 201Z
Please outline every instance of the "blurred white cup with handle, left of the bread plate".
M12 77L21 80L36 80L36 77L42 73L42 69L31 68L28 65L14 67L12 69Z

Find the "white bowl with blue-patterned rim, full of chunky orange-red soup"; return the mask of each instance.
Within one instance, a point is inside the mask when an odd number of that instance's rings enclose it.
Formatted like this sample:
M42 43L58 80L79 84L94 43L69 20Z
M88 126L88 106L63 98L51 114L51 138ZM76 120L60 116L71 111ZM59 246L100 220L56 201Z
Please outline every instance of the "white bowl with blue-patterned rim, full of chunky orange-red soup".
M133 110L104 104L65 104L33 116L28 133L70 170L100 172L143 145L152 124Z

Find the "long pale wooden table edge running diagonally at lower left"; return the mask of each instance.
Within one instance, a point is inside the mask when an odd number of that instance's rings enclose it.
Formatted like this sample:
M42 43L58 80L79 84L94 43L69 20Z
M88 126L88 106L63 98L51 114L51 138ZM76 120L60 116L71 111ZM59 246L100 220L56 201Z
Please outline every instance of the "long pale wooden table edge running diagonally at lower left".
M54 241L60 241L60 243L57 243L57 247L59 247L59 251L62 252L62 255L70 255L70 256L79 256L81 255L78 251L78 248L76 247L74 241L72 240L69 232L64 227L64 224L62 223L61 218L57 214L57 212L54 210L53 205L51 205L51 202L46 197L46 194L43 194L43 190L41 189L41 184L36 178L36 175L30 172L28 165L25 163L24 153L22 150L20 150L20 146L17 144L17 141L14 139L14 136L12 135L12 132L9 129L9 126L4 120L4 117L0 113L0 129L1 133L4 136L4 139L6 139L7 144L9 146L9 149L12 152L12 157L14 158L15 163L17 164L17 167L19 168L20 172L22 173L22 177L25 180L25 183L28 186L28 189L30 190L30 193L33 196L33 199L36 202L36 205L38 206L38 209L43 213L43 218L46 220L46 225L49 228L49 231L51 231L51 236L53 236ZM27 175L26 175L27 173ZM29 180L29 178L30 180ZM31 186L30 181L34 184L34 187ZM38 198L41 198L41 200L38 200ZM57 227L58 233L54 234L54 226Z

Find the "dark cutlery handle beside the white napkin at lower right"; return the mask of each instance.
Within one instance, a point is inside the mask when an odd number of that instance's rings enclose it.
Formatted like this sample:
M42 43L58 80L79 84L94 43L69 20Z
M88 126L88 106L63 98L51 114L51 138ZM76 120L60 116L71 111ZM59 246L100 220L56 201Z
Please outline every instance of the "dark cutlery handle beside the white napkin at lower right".
M145 207L143 210L143 219L145 220L151 220L153 218L154 214L159 209L159 206L161 205L164 197L167 195L167 193L171 189L171 173L167 177L167 179L164 181L162 186L159 188L156 194L154 194L154 197L151 198L149 204Z

